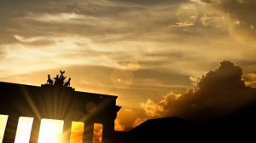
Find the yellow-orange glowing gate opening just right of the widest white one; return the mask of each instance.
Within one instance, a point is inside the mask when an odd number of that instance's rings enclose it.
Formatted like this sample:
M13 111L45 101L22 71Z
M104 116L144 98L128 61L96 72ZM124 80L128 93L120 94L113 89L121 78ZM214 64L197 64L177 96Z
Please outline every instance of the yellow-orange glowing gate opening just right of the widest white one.
M84 123L73 122L71 128L71 143L83 143Z

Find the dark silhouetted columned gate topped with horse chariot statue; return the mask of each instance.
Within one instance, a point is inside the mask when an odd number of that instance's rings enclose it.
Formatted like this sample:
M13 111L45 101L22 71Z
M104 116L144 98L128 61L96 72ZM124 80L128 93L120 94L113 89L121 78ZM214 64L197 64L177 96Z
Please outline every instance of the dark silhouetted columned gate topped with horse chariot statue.
M41 87L0 82L0 114L8 115L8 123L3 136L4 143L15 142L15 131L19 117L33 117L30 142L38 142L40 120L42 118L64 120L65 140L69 142L72 121L84 123L84 142L92 142L94 123L102 123L102 142L113 143L114 119L120 106L116 106L117 96L75 91L70 80L65 82L64 74L49 76Z

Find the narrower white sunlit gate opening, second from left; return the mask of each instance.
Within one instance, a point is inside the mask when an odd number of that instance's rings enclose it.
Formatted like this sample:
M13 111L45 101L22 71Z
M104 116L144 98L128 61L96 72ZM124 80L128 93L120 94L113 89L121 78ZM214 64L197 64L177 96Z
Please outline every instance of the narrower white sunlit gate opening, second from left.
M20 117L15 136L15 143L28 143L32 130L32 117Z

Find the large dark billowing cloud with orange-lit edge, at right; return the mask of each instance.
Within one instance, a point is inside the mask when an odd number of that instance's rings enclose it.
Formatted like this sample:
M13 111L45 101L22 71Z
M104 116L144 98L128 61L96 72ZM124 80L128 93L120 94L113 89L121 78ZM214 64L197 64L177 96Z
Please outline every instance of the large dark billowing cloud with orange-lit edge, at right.
M256 100L256 90L245 85L242 75L240 66L224 60L216 70L202 76L195 89L185 94L167 94L158 103L147 100L141 105L151 117L222 115Z

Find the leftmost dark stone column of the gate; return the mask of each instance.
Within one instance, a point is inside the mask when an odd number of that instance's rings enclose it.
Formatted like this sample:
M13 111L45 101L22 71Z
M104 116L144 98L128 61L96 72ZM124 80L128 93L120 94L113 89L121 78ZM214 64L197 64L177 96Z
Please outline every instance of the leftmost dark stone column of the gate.
M3 135L3 142L15 142L15 134L18 127L19 117L9 115Z

